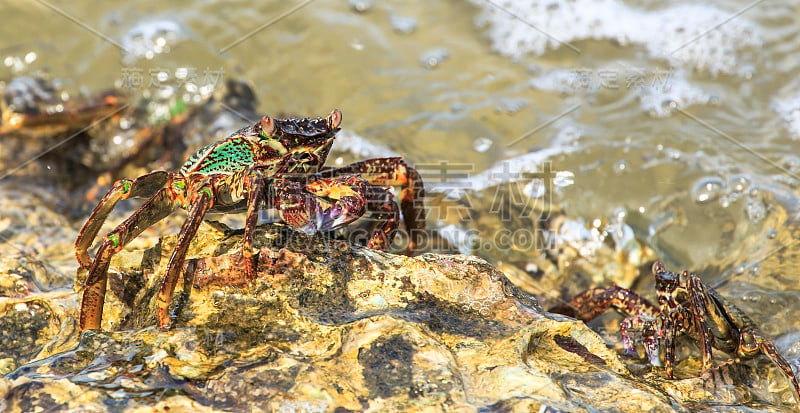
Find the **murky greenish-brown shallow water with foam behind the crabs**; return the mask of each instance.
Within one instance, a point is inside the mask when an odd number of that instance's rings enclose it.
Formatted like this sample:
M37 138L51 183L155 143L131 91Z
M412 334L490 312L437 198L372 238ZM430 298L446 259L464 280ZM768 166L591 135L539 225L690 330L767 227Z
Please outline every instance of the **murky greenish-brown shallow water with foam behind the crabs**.
M800 366L798 275L779 259L796 262L794 238L776 236L800 180L796 5L316 0L280 18L302 4L12 0L0 5L0 78L46 70L73 93L134 95L241 78L261 112L338 107L347 133L377 145L366 155L401 154L422 170L433 205L449 196L496 212L505 199L471 197L519 182L514 204L623 217L671 266L742 304ZM522 175L543 162L562 172L545 191ZM432 227L445 226L440 214Z

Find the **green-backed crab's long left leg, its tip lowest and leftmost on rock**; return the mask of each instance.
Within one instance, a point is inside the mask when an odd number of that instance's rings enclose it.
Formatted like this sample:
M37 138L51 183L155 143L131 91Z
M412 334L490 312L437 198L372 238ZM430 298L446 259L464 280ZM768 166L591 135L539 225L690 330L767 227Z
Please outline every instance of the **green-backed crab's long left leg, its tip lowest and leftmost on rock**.
M114 190L112 189L112 191ZM110 192L110 194L112 194L112 199L116 196L114 193ZM116 200L113 202L116 202ZM161 188L144 205L139 207L133 215L103 237L94 262L92 262L89 273L86 276L86 287L83 291L79 321L81 330L100 328L106 284L108 282L108 266L111 263L111 257L122 250L128 242L136 238L142 231L171 214L177 206L177 202L172 197L171 192L167 188ZM102 209L98 215L101 219L105 219L108 211ZM90 220L90 222L92 221ZM96 225L99 227L100 224ZM89 229L90 232L93 231L95 233L97 230L94 227Z

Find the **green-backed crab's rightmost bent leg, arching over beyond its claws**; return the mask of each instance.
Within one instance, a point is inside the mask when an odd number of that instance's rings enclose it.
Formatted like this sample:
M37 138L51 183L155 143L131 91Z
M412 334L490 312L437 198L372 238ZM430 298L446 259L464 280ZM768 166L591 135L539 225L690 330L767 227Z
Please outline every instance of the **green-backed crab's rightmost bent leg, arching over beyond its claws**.
M400 186L400 210L410 237L408 251L414 252L424 242L425 189L422 177L403 158L375 158L326 170L326 176L358 175L371 185Z

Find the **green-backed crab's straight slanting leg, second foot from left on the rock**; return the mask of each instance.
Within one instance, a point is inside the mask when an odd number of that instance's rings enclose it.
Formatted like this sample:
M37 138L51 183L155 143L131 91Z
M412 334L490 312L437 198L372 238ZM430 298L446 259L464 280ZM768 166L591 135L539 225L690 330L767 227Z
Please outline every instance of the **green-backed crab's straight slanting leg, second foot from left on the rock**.
M172 251L172 256L169 258L167 269L164 271L164 280L161 282L161 289L158 292L158 326L162 329L169 328L169 302L172 298L172 293L175 291L175 285L178 283L178 277L180 277L183 270L183 262L186 259L189 244L197 234L197 228L203 222L206 212L214 204L214 193L211 190L211 186L201 187L191 204L192 209L189 210L189 217L178 233L178 242L175 245L175 250Z

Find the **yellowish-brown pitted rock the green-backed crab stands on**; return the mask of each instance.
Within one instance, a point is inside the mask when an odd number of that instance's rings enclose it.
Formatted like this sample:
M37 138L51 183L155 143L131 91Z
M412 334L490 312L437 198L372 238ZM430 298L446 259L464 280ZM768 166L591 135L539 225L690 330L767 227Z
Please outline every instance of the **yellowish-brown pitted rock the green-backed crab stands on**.
M170 331L154 327L153 296L174 236L115 257L106 331L79 337L76 306L51 317L63 329L55 336L71 346L41 350L0 379L0 407L681 408L632 378L583 323L544 313L482 259L398 256L271 225L257 233L260 276L248 284L238 236L210 226L201 232L189 252L197 257L192 291L186 300L176 294Z

